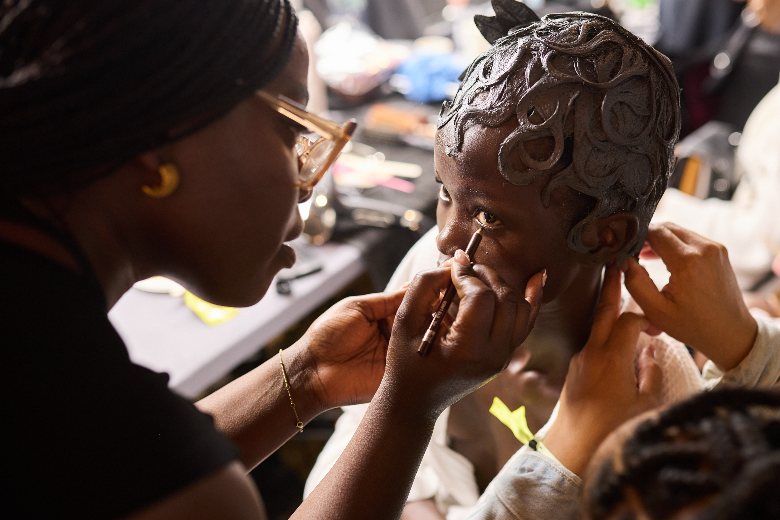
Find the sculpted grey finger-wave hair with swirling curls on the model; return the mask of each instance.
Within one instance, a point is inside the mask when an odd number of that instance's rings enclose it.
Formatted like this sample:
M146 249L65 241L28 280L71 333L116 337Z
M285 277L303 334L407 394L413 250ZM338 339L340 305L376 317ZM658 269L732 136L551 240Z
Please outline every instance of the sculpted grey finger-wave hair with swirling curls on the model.
M569 231L569 247L581 253L583 225L626 210L639 229L624 249L638 253L664 193L679 138L679 87L672 63L604 16L585 12L539 19L515 0L494 0L495 17L475 18L492 43L463 73L456 97L445 102L438 128L452 122L457 157L466 130L496 127L515 117L518 126L498 150L498 169L523 186L547 175L569 154L571 163L547 179L542 201L569 186L596 204ZM523 146L551 137L555 148L534 160ZM519 154L523 165L514 164Z

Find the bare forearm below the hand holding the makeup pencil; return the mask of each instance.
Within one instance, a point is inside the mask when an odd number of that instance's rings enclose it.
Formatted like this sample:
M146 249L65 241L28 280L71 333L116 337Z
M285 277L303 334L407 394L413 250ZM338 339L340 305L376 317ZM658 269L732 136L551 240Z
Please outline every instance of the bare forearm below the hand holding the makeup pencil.
M292 518L399 518L435 419L378 393L339 461Z

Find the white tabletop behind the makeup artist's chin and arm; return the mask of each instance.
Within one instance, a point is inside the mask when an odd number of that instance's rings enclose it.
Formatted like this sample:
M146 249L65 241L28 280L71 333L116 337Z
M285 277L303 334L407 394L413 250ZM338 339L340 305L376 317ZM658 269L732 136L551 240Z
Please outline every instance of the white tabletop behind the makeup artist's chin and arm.
M316 255L322 271L292 281L291 294L279 295L271 285L257 305L215 327L204 324L181 297L136 288L122 296L108 318L133 363L167 372L170 387L192 398L339 292L365 267L355 246L325 244Z

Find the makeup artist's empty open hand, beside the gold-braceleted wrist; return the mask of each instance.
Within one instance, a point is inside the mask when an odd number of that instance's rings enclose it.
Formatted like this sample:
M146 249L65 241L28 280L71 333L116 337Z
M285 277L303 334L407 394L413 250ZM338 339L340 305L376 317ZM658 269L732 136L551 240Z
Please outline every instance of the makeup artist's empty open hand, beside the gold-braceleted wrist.
M336 303L314 321L306 345L310 381L323 409L371 401L385 375L385 354L399 291L355 296Z

